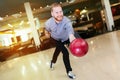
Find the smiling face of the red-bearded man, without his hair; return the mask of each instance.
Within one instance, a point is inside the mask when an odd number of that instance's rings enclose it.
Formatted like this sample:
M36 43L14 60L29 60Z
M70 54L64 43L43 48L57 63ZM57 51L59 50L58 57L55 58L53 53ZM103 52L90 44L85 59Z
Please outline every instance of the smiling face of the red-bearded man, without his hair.
M62 21L63 19L63 10L60 6L54 7L51 15L55 18L57 22Z

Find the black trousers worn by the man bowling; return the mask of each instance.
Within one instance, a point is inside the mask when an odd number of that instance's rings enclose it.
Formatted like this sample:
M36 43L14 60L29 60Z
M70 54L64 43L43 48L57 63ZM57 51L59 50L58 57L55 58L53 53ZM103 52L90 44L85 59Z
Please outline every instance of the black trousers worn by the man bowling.
M65 68L66 68L66 72L68 73L68 71L72 71L72 68L71 68L70 60L69 60L69 52L64 45L69 43L69 40L67 40L65 42L55 40L55 42L56 42L56 49L55 49L53 57L52 57L52 62L56 63L58 55L60 54L60 52L62 52L63 62L65 65Z

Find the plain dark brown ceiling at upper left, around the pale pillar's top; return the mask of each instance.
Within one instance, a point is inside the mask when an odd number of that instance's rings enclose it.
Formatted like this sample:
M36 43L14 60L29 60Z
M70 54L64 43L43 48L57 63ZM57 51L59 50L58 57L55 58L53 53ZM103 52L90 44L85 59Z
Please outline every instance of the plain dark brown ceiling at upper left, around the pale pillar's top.
M66 0L0 0L0 16L11 15L25 11L24 3L30 2L32 8L45 7L53 2L65 2Z

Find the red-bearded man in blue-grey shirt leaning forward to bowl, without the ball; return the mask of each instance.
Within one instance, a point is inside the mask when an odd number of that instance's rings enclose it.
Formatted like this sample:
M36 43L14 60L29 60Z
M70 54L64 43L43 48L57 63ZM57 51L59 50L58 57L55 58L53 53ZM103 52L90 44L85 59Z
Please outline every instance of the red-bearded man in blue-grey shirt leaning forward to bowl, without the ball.
M75 75L72 73L69 53L64 46L69 41L72 42L75 39L71 21L63 15L62 7L58 3L51 5L51 15L52 17L45 23L45 35L56 41L56 49L51 60L50 68L53 68L59 53L62 52L67 75L69 78L74 79Z

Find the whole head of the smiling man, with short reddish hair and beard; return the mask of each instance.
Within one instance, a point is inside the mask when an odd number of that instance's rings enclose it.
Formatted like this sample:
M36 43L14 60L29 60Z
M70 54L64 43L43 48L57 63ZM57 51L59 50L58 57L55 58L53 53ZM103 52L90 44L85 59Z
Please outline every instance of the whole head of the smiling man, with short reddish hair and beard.
M61 4L53 3L51 5L51 15L55 18L56 22L60 22L63 19L63 10Z

